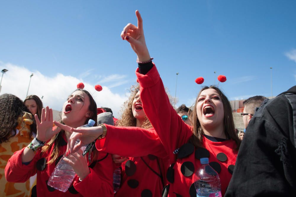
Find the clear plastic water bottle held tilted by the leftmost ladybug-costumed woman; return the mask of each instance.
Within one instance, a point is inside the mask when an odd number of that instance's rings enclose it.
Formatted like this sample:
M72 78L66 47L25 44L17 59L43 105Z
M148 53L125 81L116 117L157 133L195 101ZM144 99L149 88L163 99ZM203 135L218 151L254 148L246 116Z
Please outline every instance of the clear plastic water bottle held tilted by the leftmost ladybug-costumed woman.
M88 124L81 127L92 127L94 124L95 121L90 119ZM79 141L80 140L77 140L75 144L77 144ZM81 147L81 149L84 150L85 146ZM64 157L66 157L65 154L57 163L57 166L54 168L54 171L50 175L47 182L47 185L62 192L66 192L68 190L76 174L73 170L73 167L64 161Z

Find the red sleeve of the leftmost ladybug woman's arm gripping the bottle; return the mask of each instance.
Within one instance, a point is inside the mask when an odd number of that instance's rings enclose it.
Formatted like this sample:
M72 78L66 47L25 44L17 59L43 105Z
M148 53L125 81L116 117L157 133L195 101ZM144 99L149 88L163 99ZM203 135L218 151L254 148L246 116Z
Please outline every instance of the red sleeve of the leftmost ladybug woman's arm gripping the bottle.
M82 181L75 177L73 186L82 196L113 196L113 165L112 157L96 163L94 168L89 168L89 175Z

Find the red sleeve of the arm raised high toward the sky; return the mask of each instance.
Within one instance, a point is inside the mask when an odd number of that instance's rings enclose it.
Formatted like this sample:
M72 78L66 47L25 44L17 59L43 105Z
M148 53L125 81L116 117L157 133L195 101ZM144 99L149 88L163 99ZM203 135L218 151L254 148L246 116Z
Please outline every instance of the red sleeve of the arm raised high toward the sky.
M175 161L173 151L188 142L192 136L191 127L182 121L170 104L155 65L146 75L140 74L138 68L136 75L140 83L144 112L163 143L170 160Z

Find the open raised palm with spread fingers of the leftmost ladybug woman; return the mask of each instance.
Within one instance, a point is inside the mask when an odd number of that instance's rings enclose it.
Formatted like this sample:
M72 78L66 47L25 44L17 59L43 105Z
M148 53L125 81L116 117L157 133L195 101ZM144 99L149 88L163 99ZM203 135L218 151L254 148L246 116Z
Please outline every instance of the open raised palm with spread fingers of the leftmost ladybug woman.
M39 121L38 115L35 114L35 120L37 124L37 135L36 138L40 141L48 141L55 134L59 133L61 129L55 128L52 130L53 118L52 118L52 109L46 106L46 109L43 108L41 112L41 122Z

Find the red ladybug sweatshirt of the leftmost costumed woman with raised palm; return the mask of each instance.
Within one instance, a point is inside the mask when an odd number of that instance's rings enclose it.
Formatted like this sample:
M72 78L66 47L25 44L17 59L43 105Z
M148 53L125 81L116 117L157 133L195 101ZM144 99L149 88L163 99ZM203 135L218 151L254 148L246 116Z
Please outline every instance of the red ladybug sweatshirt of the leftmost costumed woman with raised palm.
M63 134L63 133L60 133ZM66 152L67 142L63 134L63 142L60 147L59 155ZM45 164L46 158L53 151L54 145L50 151L41 154L38 151L33 160L28 165L22 164L22 152L25 148L15 152L8 160L5 167L5 178L9 182L25 182L37 172L37 187L32 188L32 194L36 196L113 196L113 161L110 154L99 152L98 162L89 164L90 174L82 181L79 181L77 175L74 177L73 185L64 193L47 185L47 181L52 174L58 161L48 165ZM88 154L86 155L88 156ZM48 161L49 159L47 159ZM45 165L45 166L44 166Z

